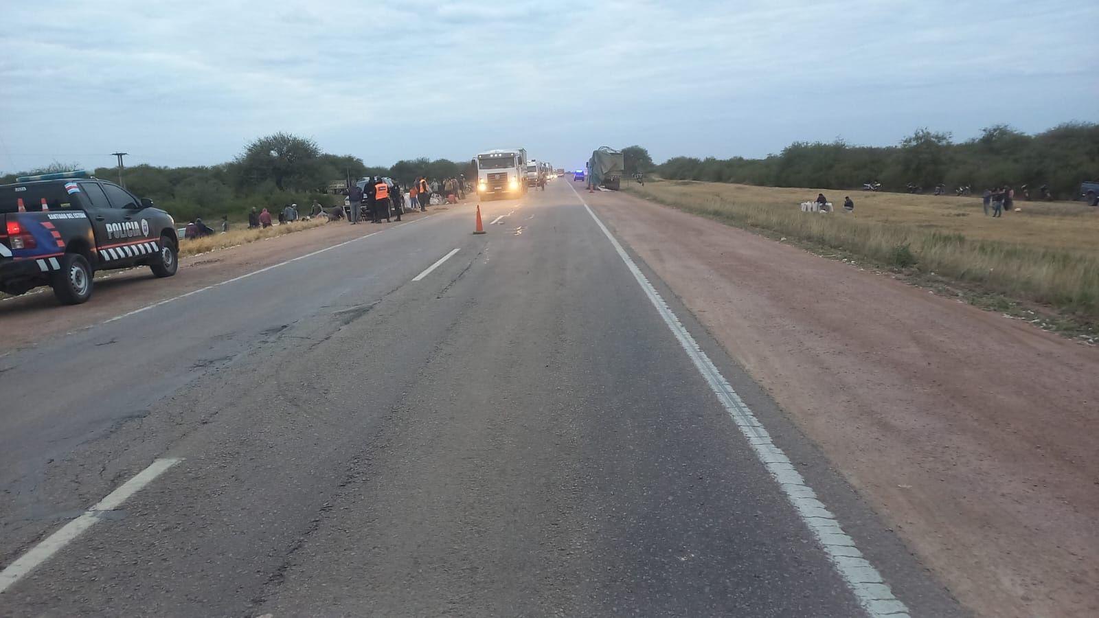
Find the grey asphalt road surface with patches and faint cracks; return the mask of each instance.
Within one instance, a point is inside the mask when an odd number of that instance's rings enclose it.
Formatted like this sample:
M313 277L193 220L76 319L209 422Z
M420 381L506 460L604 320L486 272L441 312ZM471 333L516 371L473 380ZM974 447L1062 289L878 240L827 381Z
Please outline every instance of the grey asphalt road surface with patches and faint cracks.
M0 357L0 615L957 613L568 180L482 214Z

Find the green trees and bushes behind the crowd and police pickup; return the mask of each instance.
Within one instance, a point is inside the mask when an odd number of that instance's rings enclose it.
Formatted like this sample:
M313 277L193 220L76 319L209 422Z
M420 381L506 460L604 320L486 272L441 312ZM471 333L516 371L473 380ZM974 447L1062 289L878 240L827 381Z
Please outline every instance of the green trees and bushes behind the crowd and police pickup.
M138 197L147 197L158 208L167 210L178 221L196 217L204 219L227 214L243 219L256 208L297 203L308 208L313 200L326 207L343 203L343 195L329 191L334 181L364 176L388 176L401 186L409 186L418 176L428 178L470 175L469 162L420 157L399 161L389 167L369 166L352 155L321 152L313 140L275 133L253 140L233 161L211 166L160 167L135 165L126 167L123 180ZM0 184L14 183L18 176L81 169L78 163L53 163L48 166L0 176ZM97 178L119 181L115 167L88 170Z

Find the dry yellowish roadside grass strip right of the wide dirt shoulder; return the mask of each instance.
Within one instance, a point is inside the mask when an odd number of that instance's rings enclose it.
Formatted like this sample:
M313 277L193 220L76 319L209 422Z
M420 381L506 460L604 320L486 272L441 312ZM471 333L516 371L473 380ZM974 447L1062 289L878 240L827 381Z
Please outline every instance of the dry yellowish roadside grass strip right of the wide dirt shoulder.
M907 275L932 274L988 295L1048 306L1052 330L1099 323L1099 212L1074 202L1015 202L1022 212L985 217L980 197L844 194L668 180L628 192L723 223L769 232ZM801 212L823 192L836 212ZM843 212L844 195L855 201ZM968 290L969 293L973 289ZM975 305L970 295L959 293ZM1021 309L1025 311L1025 309ZM1021 316L1021 317L1025 317ZM1054 322L1056 322L1056 325Z

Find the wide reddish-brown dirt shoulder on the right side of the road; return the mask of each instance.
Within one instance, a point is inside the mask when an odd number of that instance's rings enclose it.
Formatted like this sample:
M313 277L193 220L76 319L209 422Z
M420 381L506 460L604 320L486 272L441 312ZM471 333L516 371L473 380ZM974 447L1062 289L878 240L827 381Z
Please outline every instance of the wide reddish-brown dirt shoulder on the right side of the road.
M1099 614L1099 351L709 219L587 199L964 605Z

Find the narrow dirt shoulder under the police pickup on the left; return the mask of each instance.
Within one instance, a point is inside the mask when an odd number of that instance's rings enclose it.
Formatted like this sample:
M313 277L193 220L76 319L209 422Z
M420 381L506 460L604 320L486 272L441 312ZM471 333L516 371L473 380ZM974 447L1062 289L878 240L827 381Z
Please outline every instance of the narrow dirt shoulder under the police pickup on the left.
M403 216L411 222L433 212ZM299 255L363 236L400 223L352 225L334 221L318 228L181 257L179 272L157 279L146 267L108 272L96 276L91 299L76 307L63 306L48 287L0 300L0 324L7 332L5 352L33 345L43 339L90 327L147 305L177 297L245 273L285 262Z

